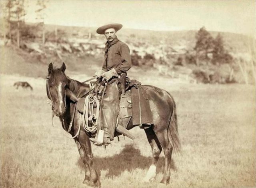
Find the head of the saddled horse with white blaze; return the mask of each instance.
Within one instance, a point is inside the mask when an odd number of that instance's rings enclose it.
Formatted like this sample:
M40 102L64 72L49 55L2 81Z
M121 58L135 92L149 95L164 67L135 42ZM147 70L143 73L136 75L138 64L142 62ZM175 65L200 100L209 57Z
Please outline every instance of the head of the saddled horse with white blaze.
M53 110L56 116L63 116L66 110L65 88L68 85L68 80L64 73L65 70L65 63L57 69L53 68L52 63L48 67L48 98L52 100Z

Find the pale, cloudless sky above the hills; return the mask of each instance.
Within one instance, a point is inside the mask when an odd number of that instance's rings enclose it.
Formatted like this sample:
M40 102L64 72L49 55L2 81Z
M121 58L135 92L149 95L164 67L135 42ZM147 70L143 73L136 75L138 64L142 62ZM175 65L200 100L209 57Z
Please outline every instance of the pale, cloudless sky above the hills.
M28 0L27 22L36 22L36 0ZM45 24L99 27L121 23L144 30L198 30L255 36L254 0L90 1L50 0Z

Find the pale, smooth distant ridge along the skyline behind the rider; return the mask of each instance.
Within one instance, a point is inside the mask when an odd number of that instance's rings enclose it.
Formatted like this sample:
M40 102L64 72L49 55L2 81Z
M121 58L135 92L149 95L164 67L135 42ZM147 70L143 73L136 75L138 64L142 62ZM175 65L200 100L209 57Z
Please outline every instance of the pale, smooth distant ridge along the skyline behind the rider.
M58 25L46 25L48 32L54 32L55 28L65 31L66 37L74 36L87 36L88 33L92 33L92 38L98 38L104 40L104 36L100 36L96 33L95 27L77 27L77 26L58 26ZM199 29L199 28L198 28ZM207 29L207 28L206 28ZM118 31L118 37L124 41L140 40L145 43L158 45L161 42L165 44L178 45L186 41L189 48L195 46L196 30L184 30L184 31L152 31L152 30L138 30L123 28ZM220 33L225 41L227 47L234 52L248 52L248 46L252 42L253 38L243 34L236 34L230 32L216 32L209 31L213 37L216 37Z

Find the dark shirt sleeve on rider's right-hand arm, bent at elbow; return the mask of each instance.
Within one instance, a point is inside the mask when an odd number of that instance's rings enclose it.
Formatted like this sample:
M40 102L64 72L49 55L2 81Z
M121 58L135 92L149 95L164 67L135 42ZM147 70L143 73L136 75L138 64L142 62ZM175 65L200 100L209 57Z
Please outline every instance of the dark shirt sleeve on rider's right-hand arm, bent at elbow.
M120 46L120 55L122 63L115 68L118 74L121 74L122 72L126 73L132 67L130 49L126 44Z

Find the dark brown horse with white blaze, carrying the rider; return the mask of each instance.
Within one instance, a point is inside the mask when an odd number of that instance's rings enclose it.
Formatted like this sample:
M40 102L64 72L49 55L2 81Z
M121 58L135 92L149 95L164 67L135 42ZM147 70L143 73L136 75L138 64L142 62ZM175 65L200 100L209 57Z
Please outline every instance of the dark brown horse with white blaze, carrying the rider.
M79 98L86 92L88 93L90 87L88 84L67 77L65 70L65 63L60 68L53 68L52 63L49 64L46 79L47 96L52 101L52 111L60 118L64 130L68 130L70 122L73 124L69 133L76 142L78 152L84 164L85 178L83 183L89 186L100 187L100 177L94 168L92 146L89 140L91 134L79 128L81 119L79 118L80 114L76 112L76 102L73 102L66 95L66 90L68 89ZM154 180L156 164L163 149L165 164L161 183L169 184L172 152L173 150L180 150L176 105L173 97L167 91L150 85L144 85L143 87L146 87L154 121L153 126L144 129L153 154L152 163L144 177L144 182ZM131 120L127 129L130 130L134 127Z

